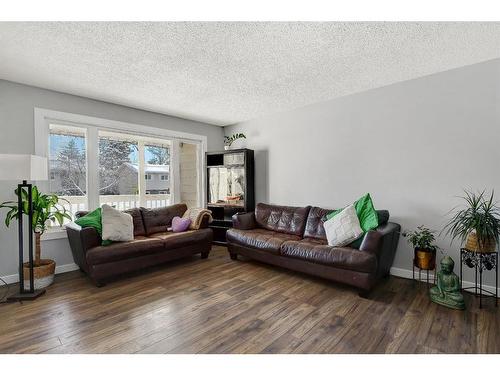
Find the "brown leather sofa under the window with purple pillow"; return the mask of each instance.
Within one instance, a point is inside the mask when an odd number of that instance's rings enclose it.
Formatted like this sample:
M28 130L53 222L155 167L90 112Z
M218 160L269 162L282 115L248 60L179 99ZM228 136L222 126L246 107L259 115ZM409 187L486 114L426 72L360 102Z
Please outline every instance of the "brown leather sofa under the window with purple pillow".
M207 258L212 244L212 230L208 217L201 229L181 233L168 232L172 219L187 210L185 204L146 209L133 208L134 240L101 246L102 239L94 228L82 228L75 223L66 226L75 263L87 273L97 286L113 276L141 268L201 253ZM86 215L77 212L77 218Z

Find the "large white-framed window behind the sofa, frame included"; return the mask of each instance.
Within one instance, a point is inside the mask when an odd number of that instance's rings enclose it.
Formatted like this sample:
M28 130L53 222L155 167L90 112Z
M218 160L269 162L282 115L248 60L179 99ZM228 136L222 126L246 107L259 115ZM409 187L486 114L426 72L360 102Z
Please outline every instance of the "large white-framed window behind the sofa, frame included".
M188 163L184 140L198 153L189 152ZM40 187L67 200L73 214L104 203L162 207L187 195L201 206L205 150L204 136L35 108L35 153L49 159L50 179Z

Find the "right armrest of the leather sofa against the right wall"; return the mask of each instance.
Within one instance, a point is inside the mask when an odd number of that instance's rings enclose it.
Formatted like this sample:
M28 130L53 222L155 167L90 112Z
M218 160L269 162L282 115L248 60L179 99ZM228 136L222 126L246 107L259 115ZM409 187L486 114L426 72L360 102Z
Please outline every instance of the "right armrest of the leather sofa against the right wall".
M361 243L360 251L367 251L377 256L378 277L388 275L391 270L400 232L401 226L399 224L388 222L376 230L366 233Z

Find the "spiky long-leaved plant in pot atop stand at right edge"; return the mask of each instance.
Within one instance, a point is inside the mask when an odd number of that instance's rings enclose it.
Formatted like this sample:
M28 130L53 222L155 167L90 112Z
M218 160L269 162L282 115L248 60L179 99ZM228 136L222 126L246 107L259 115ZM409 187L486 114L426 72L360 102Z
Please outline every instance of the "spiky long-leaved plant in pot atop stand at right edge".
M452 241L459 239L465 248L489 253L496 250L500 235L500 211L493 201L494 192L486 197L485 191L473 193L465 191L461 197L466 206L452 210L453 217L444 230Z

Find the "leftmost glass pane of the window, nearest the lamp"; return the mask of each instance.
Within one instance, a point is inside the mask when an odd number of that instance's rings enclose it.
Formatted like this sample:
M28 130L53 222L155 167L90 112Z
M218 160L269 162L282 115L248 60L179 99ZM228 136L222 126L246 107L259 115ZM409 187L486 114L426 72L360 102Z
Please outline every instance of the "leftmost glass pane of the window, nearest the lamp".
M87 147L84 128L49 126L49 190L74 215L87 209Z

